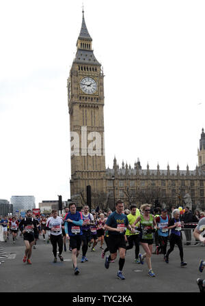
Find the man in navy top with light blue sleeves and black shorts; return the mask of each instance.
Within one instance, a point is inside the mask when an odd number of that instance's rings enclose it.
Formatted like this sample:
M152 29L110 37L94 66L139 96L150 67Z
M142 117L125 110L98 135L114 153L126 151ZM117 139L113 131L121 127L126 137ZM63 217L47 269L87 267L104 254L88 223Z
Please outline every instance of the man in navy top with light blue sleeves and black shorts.
M78 275L80 271L77 268L77 257L81 248L83 216L81 212L77 212L75 203L69 204L69 210L70 212L64 218L65 232L67 239L70 239L74 274Z

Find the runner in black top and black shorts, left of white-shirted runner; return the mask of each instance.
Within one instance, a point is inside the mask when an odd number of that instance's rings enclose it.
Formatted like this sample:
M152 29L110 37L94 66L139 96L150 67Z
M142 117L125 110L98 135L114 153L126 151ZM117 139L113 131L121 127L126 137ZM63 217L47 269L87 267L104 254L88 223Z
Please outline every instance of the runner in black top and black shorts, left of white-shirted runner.
M23 218L18 224L19 230L23 230L23 240L25 243L25 255L23 262L27 261L27 264L31 264L31 251L34 245L34 230L37 231L37 222L32 218L32 211L27 210L27 216Z

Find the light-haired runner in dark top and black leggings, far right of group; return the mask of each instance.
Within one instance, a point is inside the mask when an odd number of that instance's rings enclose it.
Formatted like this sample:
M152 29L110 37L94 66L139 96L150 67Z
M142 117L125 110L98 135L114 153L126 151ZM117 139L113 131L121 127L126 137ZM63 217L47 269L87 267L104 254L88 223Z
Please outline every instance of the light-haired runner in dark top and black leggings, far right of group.
M178 246L180 251L180 259L181 259L181 266L187 266L187 262L184 262L184 253L182 247L182 238L181 238L181 229L182 225L180 222L180 211L178 209L173 210L172 212L173 218L170 220L168 225L168 230L171 230L171 235L169 238L169 245L170 248L165 255L165 262L169 263L169 254L174 251L174 245Z

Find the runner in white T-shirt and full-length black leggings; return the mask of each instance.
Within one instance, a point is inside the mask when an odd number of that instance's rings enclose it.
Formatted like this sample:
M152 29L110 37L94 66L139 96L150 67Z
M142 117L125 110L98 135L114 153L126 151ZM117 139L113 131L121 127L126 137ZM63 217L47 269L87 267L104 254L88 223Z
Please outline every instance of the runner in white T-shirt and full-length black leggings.
M51 245L53 246L53 262L57 262L57 245L58 245L58 257L61 262L64 261L64 258L61 256L63 251L63 238L62 238L62 225L64 225L64 220L57 215L57 210L52 210L52 217L47 220L46 230L50 230L50 239Z

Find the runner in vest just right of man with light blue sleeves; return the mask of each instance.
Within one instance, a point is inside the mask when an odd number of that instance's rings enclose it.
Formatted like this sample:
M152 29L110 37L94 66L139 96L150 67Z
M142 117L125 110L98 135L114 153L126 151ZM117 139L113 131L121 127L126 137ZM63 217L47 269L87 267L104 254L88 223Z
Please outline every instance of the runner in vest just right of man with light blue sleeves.
M82 225L82 232L83 232L83 236L82 236L82 259L81 262L87 262L87 258L85 257L86 253L87 253L87 249L88 249L88 243L91 240L91 232L90 232L90 225L91 223L94 222L94 217L93 215L89 212L89 207L87 205L85 205L83 207L83 225Z

